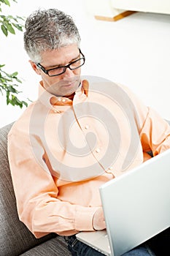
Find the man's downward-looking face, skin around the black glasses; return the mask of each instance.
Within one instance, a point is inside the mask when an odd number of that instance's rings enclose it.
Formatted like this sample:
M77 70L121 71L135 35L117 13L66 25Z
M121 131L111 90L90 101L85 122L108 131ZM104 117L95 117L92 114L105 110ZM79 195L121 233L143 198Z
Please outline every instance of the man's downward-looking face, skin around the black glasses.
M72 61L80 59L80 50L77 45L68 45L58 50L46 50L42 53L41 65L46 70L53 69L55 67L65 66ZM31 63L32 67L33 64ZM34 67L33 67L34 68ZM50 77L45 74L42 69L36 67L34 69L37 74L42 76L42 82L44 88L56 96L66 96L73 94L80 85L80 72L81 68L71 70L66 69L61 75Z

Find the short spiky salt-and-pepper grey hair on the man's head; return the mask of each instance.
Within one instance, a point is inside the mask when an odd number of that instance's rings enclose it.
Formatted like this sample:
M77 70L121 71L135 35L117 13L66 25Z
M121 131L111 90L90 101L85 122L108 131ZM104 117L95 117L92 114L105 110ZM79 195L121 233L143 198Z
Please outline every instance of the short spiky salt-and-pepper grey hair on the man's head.
M80 34L74 20L57 9L37 10L26 19L24 48L31 61L41 62L41 53L66 45L77 44Z

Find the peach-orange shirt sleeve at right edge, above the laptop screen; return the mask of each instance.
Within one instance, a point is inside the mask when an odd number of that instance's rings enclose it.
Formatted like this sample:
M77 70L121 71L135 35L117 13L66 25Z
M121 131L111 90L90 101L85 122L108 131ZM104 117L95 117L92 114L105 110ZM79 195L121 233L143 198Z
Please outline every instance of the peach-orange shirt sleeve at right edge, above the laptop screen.
M120 84L119 84L120 85ZM144 105L126 86L120 85L130 97L136 108L138 122L136 125L144 154L152 151L153 157L170 148L170 126L159 113Z

